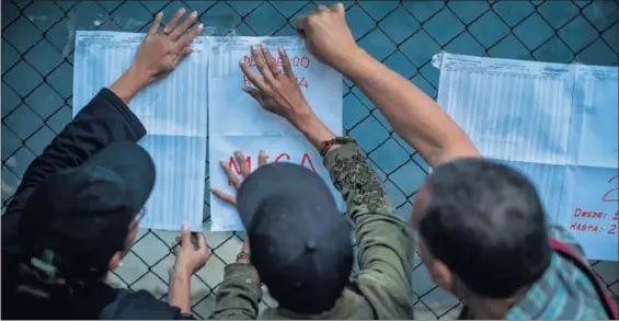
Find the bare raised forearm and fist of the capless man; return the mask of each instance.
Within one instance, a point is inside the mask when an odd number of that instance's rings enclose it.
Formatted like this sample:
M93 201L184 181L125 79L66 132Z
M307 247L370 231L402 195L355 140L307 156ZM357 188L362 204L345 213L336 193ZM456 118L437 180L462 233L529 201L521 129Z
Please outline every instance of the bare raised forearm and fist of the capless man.
M429 165L479 156L465 131L429 96L357 46L342 3L319 5L299 18L297 28L308 48L351 79Z

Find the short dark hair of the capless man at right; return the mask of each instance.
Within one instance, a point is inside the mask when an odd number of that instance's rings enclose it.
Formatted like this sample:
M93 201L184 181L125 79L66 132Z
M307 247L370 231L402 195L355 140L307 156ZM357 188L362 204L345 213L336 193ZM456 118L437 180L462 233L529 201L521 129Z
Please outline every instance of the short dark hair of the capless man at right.
M469 290L508 298L543 274L551 259L546 216L525 175L467 158L436 168L426 186L420 233Z

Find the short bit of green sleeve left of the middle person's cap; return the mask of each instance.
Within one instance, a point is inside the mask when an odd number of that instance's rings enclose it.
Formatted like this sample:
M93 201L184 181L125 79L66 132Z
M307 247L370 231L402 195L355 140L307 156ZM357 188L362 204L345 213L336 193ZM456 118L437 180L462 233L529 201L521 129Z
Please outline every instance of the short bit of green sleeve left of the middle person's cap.
M251 264L232 263L226 266L223 280L215 297L210 320L254 320L259 313L262 289L257 273Z

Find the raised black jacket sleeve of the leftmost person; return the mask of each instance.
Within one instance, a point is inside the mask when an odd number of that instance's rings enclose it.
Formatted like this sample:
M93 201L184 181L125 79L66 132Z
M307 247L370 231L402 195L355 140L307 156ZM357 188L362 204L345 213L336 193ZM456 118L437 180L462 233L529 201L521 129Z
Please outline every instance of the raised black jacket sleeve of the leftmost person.
M146 128L128 106L112 91L102 89L27 168L2 216L2 252L16 251L21 213L49 174L82 164L112 142L138 141L145 135Z

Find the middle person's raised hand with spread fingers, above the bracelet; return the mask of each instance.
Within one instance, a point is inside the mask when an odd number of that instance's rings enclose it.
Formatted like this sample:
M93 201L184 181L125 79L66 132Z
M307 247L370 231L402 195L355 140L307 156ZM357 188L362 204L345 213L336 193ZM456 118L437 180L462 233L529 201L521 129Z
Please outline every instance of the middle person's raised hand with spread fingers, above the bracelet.
M284 48L278 50L284 70L279 69L277 61L265 45L262 45L260 49L252 46L251 51L262 79L250 69L247 62L241 61L241 70L255 85L255 88L243 88L243 91L253 96L265 110L288 119L295 126L308 117L313 117L313 112L301 93L293 72L286 50Z

